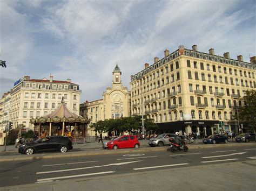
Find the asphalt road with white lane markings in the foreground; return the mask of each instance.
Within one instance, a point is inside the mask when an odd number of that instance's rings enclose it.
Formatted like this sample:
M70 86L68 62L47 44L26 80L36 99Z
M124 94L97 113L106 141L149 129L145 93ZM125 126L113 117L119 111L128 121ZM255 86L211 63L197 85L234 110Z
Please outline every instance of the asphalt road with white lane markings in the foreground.
M166 147L167 148L167 147ZM145 172L179 167L223 164L256 159L256 148L218 147L188 152L146 152L133 154L91 155L76 158L1 162L1 187L30 183L76 180L107 174ZM255 167L254 167L255 169ZM239 173L239 169L238 169Z

